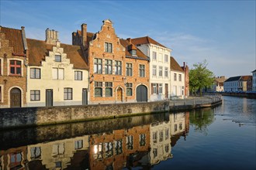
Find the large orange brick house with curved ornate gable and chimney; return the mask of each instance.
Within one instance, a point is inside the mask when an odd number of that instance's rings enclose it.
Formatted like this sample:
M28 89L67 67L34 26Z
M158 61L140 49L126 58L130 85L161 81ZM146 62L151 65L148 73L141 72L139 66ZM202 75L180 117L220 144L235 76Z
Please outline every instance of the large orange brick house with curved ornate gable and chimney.
M90 104L148 101L149 58L130 41L119 39L111 20L104 20L95 34L82 24L72 39L85 49Z

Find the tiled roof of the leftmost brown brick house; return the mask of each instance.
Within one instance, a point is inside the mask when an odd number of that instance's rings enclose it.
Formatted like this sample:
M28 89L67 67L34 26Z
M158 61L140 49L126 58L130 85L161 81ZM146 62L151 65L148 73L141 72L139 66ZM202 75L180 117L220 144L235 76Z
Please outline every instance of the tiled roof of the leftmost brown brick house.
M5 39L8 39L9 46L13 47L14 55L16 55L16 56L24 56L25 55L21 29L10 29L10 28L1 26L0 32L5 33Z

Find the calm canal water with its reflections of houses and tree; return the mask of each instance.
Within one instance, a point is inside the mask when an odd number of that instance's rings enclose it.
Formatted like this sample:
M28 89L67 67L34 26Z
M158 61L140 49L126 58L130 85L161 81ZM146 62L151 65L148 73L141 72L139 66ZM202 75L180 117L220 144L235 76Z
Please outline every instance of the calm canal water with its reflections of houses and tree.
M0 131L3 169L256 169L256 100Z

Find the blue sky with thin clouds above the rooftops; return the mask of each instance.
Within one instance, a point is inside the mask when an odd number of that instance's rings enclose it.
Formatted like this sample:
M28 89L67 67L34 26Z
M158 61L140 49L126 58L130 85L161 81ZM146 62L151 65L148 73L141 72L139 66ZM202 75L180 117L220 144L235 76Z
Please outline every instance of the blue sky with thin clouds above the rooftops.
M256 69L255 1L0 1L0 25L25 26L26 37L61 42L87 23L98 32L111 19L120 38L150 36L172 49L180 65L206 59L216 76L251 75Z

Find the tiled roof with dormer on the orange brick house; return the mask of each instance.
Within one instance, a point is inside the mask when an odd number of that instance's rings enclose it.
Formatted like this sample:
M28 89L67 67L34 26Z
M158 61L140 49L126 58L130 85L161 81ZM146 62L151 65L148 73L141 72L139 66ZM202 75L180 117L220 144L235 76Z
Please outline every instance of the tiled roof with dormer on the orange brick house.
M142 53L140 51L140 49L138 49L136 46L134 46L132 43L130 43L128 40L126 39L119 39L120 43L122 44L122 46L124 46L126 48L126 57L130 57L130 58L134 58L134 59L145 59L145 60L149 60L149 57L146 56L144 53ZM132 54L128 51L128 47L132 47L132 49L136 49L137 50L137 56L132 56Z

